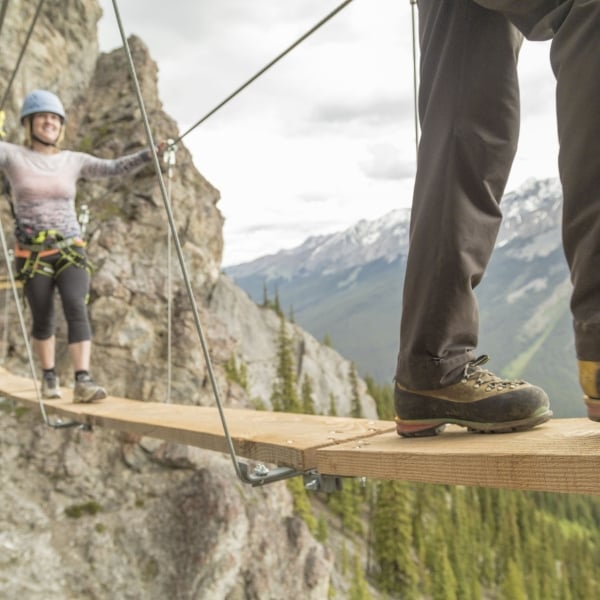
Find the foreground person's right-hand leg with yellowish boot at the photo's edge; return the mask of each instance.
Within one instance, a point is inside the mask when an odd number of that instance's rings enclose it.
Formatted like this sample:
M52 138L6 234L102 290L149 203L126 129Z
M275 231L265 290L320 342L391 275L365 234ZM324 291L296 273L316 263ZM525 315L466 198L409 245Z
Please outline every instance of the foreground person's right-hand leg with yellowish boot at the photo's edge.
M600 421L600 0L475 0L531 39L552 38L563 186L563 245L579 381Z

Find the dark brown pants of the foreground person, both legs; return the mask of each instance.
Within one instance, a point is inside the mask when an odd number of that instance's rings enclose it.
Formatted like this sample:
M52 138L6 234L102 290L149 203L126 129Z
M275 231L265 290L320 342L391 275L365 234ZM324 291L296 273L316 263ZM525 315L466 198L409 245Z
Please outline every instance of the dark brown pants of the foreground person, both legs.
M563 246L577 357L600 360L600 0L419 0L419 146L396 377L451 383L472 360L473 289L517 146L523 35L552 39Z

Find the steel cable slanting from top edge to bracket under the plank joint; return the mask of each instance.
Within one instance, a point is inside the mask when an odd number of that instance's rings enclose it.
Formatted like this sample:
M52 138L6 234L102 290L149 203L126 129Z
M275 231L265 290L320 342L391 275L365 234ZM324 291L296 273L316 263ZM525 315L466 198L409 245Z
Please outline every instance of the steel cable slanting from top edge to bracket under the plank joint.
M148 141L148 144L151 148L152 151L152 160L154 163L154 169L156 171L156 175L158 178L158 183L159 183L159 187L160 187L160 191L161 191L161 195L162 195L162 199L163 199L163 204L165 206L165 211L167 213L167 219L169 221L169 227L171 229L171 233L173 236L173 243L175 246L175 250L177 252L177 258L179 260L179 266L181 268L181 273L183 276L183 281L185 284L185 289L192 307L192 314L194 317L194 324L196 327L196 332L198 333L198 338L200 339L200 344L202 346L202 352L204 354L204 360L206 362L206 369L208 371L208 376L209 376L209 380L210 380L210 384L212 387L212 391L213 391L213 395L215 397L215 401L217 403L217 408L219 411L219 416L221 419L221 425L223 427L223 433L225 436L225 440L227 442L227 448L229 450L229 454L231 456L232 462L233 462L233 467L236 471L236 474L238 475L238 477L243 480L244 479L244 475L241 471L240 468L240 464L239 461L237 459L237 455L235 453L235 448L233 446L233 440L231 439L231 435L229 434L229 427L227 426L227 419L225 418L225 412L223 409L223 404L221 402L221 395L219 392L219 387L217 385L217 380L214 374L214 370L213 370L213 366L212 366L212 360L210 358L210 354L208 352L208 345L206 343L206 339L204 337L204 331L202 328L202 324L200 322L200 315L198 312L198 306L196 304L196 299L194 297L194 292L192 290L192 285L190 282L190 278L188 275L188 270L187 270L187 266L185 264L185 259L183 256L183 250L181 248L181 242L179 240L179 235L177 234L177 229L175 227L175 219L173 218L173 211L171 210L171 206L168 202L168 198L167 198L167 189L165 187L165 182L162 176L162 172L160 170L160 162L158 160L157 154L156 154L156 146L154 144L154 138L152 136L152 131L150 130L150 122L148 121L148 114L146 112L146 107L144 104L144 99L142 97L142 92L140 89L140 84L139 84L139 80L137 77L137 73L135 71L135 65L133 63L133 57L131 55L131 49L129 47L129 42L127 41L127 37L125 36L125 31L123 29L123 23L121 21L121 15L119 13L119 7L118 7L118 3L117 0L112 0L112 4L113 4L113 9L115 12L115 18L117 20L117 25L119 27L119 32L121 34L121 40L123 42L123 48L125 49L125 53L127 55L127 62L129 65L129 71L131 74L131 78L133 80L133 84L134 84L134 88L135 88L135 94L137 97L137 101L140 107L140 112L142 113L142 120L144 123L144 129L146 132L146 138Z

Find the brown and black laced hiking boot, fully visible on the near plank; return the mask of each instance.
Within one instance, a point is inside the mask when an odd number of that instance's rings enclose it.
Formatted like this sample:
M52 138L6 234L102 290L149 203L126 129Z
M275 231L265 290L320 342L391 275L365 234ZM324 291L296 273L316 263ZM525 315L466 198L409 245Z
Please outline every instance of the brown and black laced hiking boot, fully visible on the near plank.
M396 382L398 435L436 435L448 423L481 433L509 433L530 429L552 416L544 390L482 369L488 360L480 356L468 363L458 383L440 389L409 390Z

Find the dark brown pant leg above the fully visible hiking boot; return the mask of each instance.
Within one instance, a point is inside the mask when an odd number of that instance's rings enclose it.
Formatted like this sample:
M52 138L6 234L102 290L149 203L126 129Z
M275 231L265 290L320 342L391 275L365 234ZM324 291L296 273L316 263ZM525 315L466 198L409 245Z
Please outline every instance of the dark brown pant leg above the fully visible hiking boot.
M396 378L451 383L474 358L473 289L494 248L519 129L522 36L470 0L420 0L422 136Z

